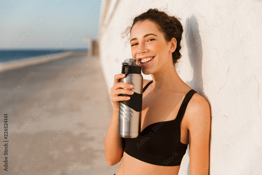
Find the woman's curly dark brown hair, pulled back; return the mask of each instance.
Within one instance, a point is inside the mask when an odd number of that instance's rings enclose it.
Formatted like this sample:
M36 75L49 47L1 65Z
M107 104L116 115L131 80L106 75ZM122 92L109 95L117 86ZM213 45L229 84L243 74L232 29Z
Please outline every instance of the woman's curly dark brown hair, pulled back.
M176 50L172 53L173 63L176 64L181 58L179 50L181 49L180 42L183 33L183 27L178 19L181 20L180 18L169 16L165 12L159 11L156 8L149 9L147 12L135 17L132 26L127 28L125 32L131 32L134 24L137 22L142 22L144 20L150 20L151 22L154 22L158 29L163 33L167 42L171 41L173 37L176 38L177 47Z

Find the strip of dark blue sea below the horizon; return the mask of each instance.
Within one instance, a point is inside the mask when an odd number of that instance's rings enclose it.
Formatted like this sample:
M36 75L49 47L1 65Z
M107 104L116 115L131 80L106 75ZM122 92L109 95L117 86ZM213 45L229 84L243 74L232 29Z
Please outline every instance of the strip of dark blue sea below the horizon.
M56 53L67 51L85 51L85 49L58 50ZM29 57L50 54L51 50L0 50L0 62L20 60Z

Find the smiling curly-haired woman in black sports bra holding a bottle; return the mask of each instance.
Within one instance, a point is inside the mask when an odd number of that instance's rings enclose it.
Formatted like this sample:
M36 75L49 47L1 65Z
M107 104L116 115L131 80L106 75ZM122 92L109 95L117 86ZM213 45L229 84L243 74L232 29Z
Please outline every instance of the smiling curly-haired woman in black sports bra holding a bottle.
M157 9L134 19L130 28L132 57L139 58L141 71L151 74L143 81L141 135L118 135L119 101L129 100L132 85L114 76L110 89L113 115L105 137L105 157L109 165L121 161L116 175L174 174L189 144L190 174L209 173L210 106L208 101L178 76L175 64L183 33L177 18ZM122 89L127 88L127 89Z

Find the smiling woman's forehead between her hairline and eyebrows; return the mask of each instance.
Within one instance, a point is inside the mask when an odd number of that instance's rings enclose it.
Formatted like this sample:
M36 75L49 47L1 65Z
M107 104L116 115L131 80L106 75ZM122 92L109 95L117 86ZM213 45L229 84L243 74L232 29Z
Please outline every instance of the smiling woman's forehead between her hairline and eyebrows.
M132 38L143 37L146 34L155 34L157 36L161 35L161 32L157 28L157 25L154 22L149 20L144 20L142 22L137 22L133 25L132 30L130 31L130 36Z

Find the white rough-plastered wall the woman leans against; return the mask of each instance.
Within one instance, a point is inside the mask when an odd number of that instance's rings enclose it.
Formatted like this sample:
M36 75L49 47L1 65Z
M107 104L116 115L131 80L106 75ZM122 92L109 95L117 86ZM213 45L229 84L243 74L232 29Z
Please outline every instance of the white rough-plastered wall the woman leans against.
M132 57L122 27L149 8L166 8L184 29L178 74L211 106L210 174L262 174L262 2L111 0L107 6L99 47L108 88ZM179 175L189 174L188 151Z

